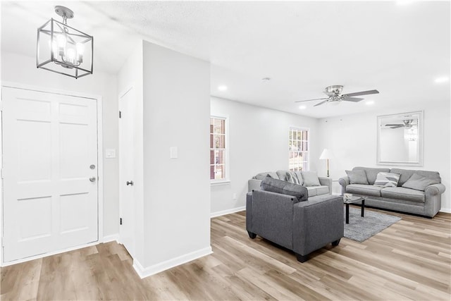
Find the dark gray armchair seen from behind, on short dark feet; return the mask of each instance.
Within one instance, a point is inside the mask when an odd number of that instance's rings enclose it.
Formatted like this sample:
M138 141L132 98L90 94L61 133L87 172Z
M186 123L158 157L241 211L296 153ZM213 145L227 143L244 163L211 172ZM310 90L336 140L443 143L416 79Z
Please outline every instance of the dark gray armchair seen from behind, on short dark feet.
M295 252L299 262L309 253L343 237L343 200L319 195L299 202L296 197L265 190L247 193L246 228L250 238L260 235Z

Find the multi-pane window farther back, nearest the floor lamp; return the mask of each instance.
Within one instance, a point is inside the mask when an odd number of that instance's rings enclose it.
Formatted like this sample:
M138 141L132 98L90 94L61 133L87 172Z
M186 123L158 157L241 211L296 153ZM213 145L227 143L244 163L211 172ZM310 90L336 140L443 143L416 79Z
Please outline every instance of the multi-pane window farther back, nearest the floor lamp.
M309 130L290 128L288 146L288 168L290 168L290 171L308 171Z

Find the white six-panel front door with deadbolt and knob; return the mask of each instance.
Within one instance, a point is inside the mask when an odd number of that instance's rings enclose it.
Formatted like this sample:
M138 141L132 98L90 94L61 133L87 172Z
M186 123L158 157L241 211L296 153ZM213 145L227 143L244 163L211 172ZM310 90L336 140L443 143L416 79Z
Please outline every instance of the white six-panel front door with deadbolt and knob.
M4 262L98 240L97 100L3 87Z

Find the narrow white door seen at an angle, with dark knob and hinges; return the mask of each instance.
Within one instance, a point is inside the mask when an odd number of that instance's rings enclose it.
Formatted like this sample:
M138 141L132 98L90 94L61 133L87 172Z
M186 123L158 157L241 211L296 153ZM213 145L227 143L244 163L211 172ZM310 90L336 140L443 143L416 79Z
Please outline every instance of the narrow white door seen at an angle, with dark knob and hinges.
M119 228L121 243L133 258L135 256L134 238L134 149L135 149L135 90L131 88L119 99L119 194L122 224Z

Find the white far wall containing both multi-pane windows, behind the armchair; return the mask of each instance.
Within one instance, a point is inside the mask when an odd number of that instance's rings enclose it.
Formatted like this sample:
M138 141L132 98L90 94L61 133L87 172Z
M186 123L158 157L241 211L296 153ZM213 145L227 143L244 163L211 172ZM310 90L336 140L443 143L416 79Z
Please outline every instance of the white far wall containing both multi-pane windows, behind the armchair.
M318 120L211 97L211 115L229 118L230 183L211 185L213 216L242 209L246 205L247 180L257 173L288 169L290 127L310 130L310 170L318 171ZM326 168L319 171L326 175ZM233 199L233 194L237 199Z

